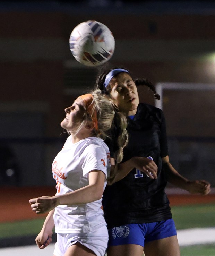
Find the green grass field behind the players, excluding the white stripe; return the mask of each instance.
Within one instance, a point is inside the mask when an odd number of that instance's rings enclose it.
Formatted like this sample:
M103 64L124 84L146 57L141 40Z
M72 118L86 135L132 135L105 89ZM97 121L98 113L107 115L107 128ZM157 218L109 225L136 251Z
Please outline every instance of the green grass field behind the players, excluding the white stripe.
M171 207L178 230L188 228L215 227L215 204ZM36 235L44 219L0 223L0 239ZM215 256L215 244L181 247L181 256Z

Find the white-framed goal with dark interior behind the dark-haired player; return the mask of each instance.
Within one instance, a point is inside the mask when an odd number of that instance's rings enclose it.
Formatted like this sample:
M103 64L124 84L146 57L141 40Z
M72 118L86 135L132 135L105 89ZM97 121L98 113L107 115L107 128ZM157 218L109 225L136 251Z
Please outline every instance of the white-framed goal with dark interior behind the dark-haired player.
M156 92L171 163L182 176L205 179L215 187L215 84L157 83Z

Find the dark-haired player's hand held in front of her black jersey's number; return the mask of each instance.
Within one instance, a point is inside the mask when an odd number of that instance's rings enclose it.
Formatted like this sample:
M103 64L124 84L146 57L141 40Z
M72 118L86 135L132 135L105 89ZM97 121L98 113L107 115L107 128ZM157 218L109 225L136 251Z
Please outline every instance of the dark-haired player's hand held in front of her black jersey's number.
M157 165L148 157L133 157L134 166L141 172L146 173L150 179L157 179Z

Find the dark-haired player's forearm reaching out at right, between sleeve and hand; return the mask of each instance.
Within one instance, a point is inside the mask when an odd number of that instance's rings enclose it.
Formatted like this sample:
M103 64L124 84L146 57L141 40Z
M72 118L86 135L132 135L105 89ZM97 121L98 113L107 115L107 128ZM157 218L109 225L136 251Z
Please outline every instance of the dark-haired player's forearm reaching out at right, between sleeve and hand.
M188 182L189 180L181 176L171 165L171 163L163 163L163 168L165 170L167 181L171 184L182 188L184 190L188 190Z

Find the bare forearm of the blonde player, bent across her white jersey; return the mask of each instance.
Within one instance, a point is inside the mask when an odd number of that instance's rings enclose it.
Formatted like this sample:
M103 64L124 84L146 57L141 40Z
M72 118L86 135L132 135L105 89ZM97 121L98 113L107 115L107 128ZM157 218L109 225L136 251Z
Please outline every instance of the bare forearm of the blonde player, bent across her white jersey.
M64 195L55 196L57 205L87 204L102 198L103 188L96 184L77 189Z

